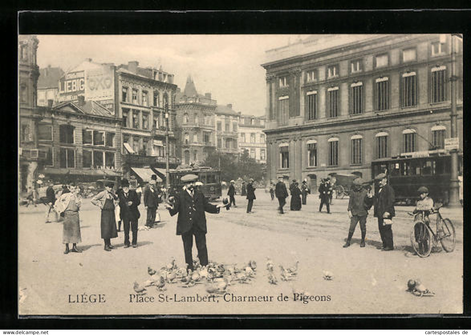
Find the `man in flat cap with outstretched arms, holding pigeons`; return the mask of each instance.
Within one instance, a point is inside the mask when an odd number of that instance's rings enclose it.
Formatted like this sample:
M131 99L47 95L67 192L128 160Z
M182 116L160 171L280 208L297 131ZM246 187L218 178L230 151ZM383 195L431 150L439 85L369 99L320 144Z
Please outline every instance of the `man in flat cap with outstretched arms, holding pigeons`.
M201 191L195 189L195 181L198 176L187 174L181 178L186 186L175 195L173 201L165 205L170 215L178 213L177 235L181 235L183 249L185 251L185 262L187 268L193 269L193 235L195 235L196 249L200 264L208 265L208 249L206 247L206 216L204 212L219 213L224 204L212 205Z

